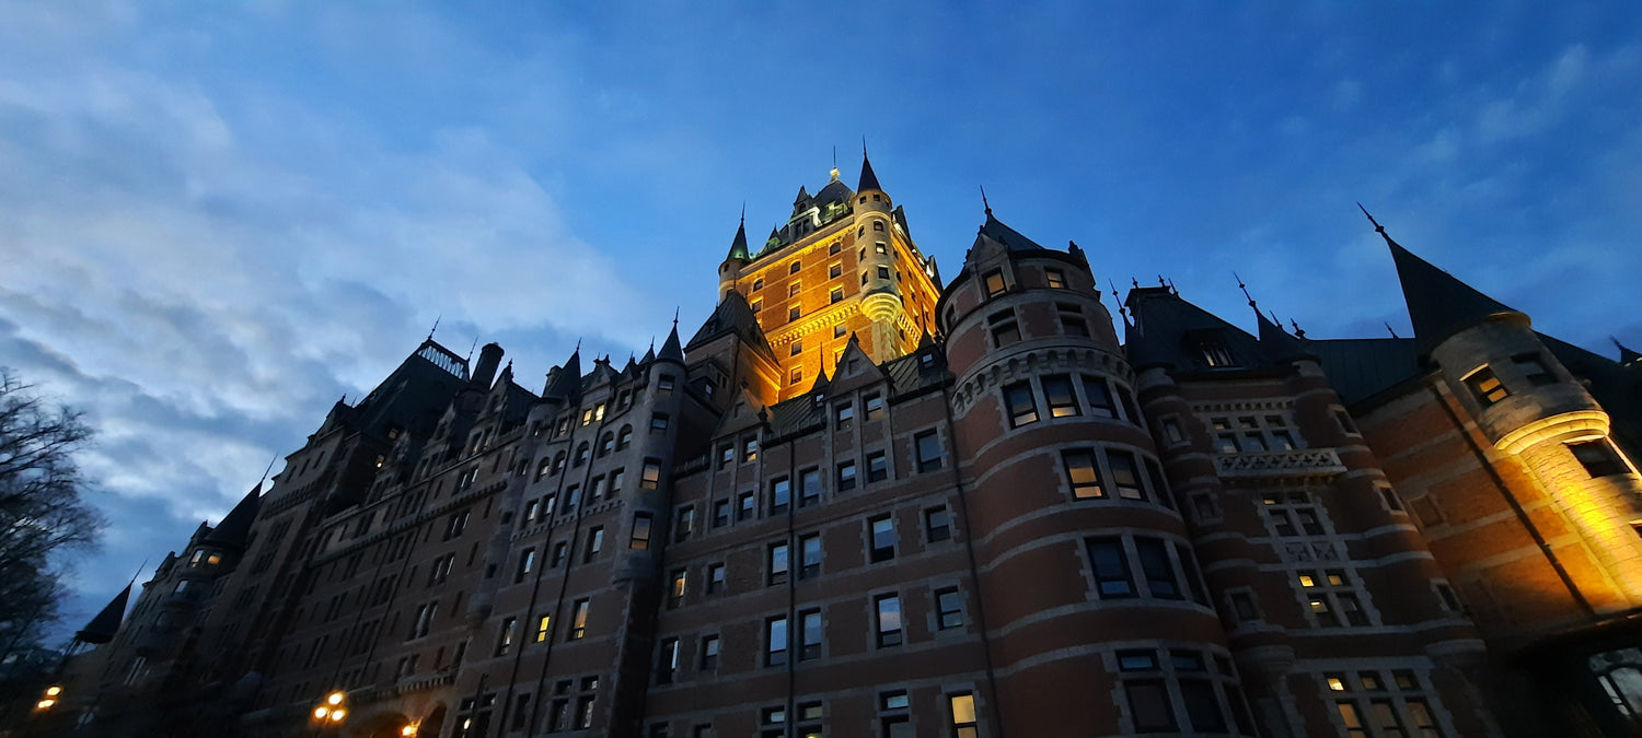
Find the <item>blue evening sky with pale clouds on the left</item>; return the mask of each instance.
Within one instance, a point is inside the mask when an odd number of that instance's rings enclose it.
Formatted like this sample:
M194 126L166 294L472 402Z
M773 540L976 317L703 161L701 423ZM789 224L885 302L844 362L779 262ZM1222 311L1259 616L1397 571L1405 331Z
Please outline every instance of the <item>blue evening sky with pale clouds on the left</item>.
M108 512L67 626L443 317L525 385L711 310L865 136L947 279L982 220L1243 325L1401 335L1361 200L1535 326L1642 348L1635 3L0 2L0 366ZM144 571L146 576L146 571Z

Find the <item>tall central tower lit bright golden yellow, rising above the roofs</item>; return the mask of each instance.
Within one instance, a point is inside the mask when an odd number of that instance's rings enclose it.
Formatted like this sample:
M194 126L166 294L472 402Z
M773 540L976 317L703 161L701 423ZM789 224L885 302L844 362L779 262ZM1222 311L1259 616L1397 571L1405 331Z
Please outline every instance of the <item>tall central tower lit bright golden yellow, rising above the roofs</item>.
M934 331L938 282L865 153L855 190L832 169L814 195L798 189L793 213L757 254L744 220L719 264L719 298L747 298L782 362L782 400L832 372L851 335L880 364L916 348Z

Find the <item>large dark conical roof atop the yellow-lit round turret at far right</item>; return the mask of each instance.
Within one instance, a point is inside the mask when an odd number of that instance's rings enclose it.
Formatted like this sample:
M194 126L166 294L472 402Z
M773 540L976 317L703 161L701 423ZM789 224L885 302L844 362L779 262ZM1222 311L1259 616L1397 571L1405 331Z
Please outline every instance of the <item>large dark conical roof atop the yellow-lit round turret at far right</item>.
M1368 215L1368 210L1363 210L1363 215ZM1391 261L1397 264L1397 280L1402 284L1402 298L1409 305L1409 321L1414 323L1414 339L1422 356L1430 354L1448 336L1488 318L1504 315L1527 321L1527 315L1414 256L1394 241L1373 215L1368 215L1368 221L1374 223L1374 233L1379 233L1391 248Z

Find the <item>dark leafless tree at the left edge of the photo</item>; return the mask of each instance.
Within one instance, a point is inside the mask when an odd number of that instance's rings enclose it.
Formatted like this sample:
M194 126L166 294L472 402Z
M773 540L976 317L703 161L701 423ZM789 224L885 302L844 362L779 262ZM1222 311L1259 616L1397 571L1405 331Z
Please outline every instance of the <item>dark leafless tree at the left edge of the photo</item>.
M0 663L39 649L64 594L64 554L97 543L103 522L74 462L90 438L79 412L0 367Z

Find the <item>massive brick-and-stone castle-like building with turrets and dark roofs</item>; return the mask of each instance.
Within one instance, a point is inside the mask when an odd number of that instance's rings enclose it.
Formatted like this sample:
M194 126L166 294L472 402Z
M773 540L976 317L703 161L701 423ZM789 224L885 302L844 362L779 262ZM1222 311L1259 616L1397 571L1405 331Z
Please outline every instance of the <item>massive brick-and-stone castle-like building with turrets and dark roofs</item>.
M1248 333L1171 287L1115 321L1090 254L990 208L943 285L870 164L834 171L642 359L537 390L430 336L167 559L66 707L105 736L1627 735L1642 358L1387 246L1414 338Z

